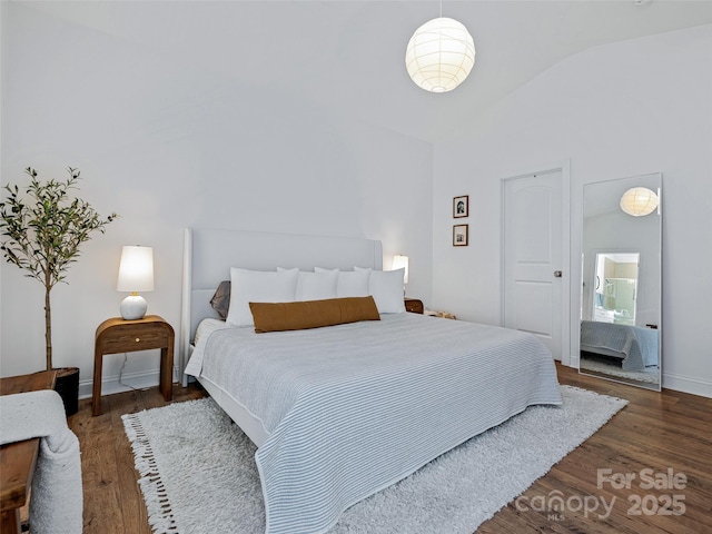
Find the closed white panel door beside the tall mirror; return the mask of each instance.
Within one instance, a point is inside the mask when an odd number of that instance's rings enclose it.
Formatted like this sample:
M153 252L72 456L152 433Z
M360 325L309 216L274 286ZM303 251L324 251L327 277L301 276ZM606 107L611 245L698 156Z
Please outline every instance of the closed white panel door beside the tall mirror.
M562 358L562 171L504 182L504 326L538 336Z

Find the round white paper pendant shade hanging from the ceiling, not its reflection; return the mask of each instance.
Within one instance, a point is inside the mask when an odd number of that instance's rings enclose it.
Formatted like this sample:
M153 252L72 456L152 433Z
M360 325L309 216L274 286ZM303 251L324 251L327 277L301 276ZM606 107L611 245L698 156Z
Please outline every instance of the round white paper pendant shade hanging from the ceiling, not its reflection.
M475 43L461 22L441 17L413 33L405 66L413 81L432 92L452 91L475 65Z

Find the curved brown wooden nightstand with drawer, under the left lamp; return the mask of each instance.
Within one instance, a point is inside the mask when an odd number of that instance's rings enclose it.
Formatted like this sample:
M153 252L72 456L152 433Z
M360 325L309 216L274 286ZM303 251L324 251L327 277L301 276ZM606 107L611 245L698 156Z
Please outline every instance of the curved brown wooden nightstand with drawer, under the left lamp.
M160 393L166 400L172 398L174 328L158 315L126 320L107 319L97 328L93 350L93 390L91 415L101 414L101 363L105 354L132 353L160 348Z

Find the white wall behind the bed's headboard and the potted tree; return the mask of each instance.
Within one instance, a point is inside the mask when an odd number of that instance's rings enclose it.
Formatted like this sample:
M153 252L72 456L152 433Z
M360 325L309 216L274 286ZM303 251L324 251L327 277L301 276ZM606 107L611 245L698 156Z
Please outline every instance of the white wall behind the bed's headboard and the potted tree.
M78 167L80 196L121 216L52 293L55 364L79 366L85 393L96 327L125 296L122 245L154 247L148 312L178 334L187 226L380 239L384 268L408 254L409 293L429 300L429 144L364 122L348 102L326 113L288 87L226 78L17 2L3 2L3 184L24 184L28 166L41 178ZM41 369L42 286L1 264L0 374ZM105 358L105 379L121 362ZM140 385L157 369L157 355L129 355L125 373Z

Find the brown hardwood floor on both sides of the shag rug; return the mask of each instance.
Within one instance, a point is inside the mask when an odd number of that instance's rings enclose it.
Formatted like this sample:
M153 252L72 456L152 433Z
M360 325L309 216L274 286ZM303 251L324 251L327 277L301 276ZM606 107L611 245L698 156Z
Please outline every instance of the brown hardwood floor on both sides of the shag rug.
M630 404L535 482L518 506L516 501L510 504L477 532L712 532L712 399L669 389L649 392L578 375L568 367L557 369L562 384ZM199 386L174 385L174 402L202 396ZM155 387L105 396L98 417L91 416L91 400L81 400L79 413L70 417L81 443L85 534L150 534L121 415L166 404ZM634 478L629 488L625 484L616 488L611 482L599 483L603 477L599 469L611 469L613 483L626 475ZM537 511L555 504L554 496L563 500L563 510ZM594 504L597 510L592 510Z

